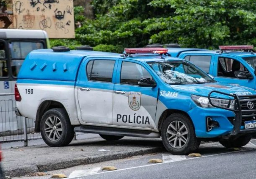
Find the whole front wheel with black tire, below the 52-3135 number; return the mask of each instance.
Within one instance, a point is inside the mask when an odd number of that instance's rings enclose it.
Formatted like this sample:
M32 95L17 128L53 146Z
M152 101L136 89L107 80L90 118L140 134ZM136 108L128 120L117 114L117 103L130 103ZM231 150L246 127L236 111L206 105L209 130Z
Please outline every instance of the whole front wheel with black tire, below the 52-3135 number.
M174 128L172 128L171 125ZM176 128L176 126L179 127ZM161 136L163 145L166 150L174 155L187 155L191 152L194 152L198 149L201 142L195 136L191 120L186 115L180 113L171 114L164 120L161 130ZM168 139L170 142L168 141ZM176 144L174 145L175 140ZM180 141L181 143L179 143Z

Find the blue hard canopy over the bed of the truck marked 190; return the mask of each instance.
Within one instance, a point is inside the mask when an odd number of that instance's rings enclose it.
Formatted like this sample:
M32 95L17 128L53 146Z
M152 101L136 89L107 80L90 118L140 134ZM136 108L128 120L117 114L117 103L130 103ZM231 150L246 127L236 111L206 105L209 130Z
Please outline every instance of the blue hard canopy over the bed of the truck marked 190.
M40 49L30 52L18 75L19 79L75 81L79 66L86 56L117 55L90 50L54 52Z

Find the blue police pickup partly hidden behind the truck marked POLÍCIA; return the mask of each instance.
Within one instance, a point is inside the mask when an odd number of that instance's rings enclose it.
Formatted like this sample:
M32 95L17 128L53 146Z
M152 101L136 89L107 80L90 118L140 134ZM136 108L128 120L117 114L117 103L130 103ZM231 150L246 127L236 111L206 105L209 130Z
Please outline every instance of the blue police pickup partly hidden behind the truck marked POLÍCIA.
M220 46L220 50L169 48L168 53L192 62L219 82L256 89L252 45Z

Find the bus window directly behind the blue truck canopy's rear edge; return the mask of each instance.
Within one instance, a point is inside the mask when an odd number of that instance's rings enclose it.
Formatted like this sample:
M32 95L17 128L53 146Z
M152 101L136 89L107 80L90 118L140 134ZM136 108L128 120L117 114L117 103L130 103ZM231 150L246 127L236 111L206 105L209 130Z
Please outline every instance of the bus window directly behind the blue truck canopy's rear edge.
M29 52L42 48L44 48L44 45L41 42L10 42L9 49L13 76L16 77L18 75L23 60Z

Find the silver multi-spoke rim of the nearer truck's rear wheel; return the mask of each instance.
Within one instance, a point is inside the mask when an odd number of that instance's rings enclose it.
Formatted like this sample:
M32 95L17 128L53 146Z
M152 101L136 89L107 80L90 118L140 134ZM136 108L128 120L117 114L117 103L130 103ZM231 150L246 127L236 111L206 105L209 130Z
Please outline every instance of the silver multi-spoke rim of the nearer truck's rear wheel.
M51 141L57 141L62 136L62 123L57 116L50 116L46 119L44 124L44 132Z

